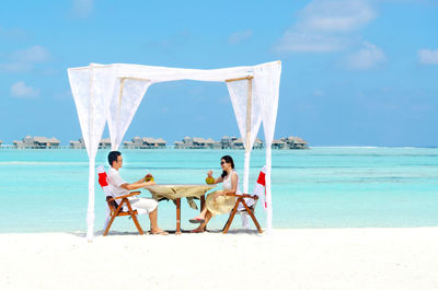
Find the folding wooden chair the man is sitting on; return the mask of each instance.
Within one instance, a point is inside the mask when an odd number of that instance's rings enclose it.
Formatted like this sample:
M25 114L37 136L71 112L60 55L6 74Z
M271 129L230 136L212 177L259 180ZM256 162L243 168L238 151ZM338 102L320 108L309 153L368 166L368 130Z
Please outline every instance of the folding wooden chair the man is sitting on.
M130 202L128 199L128 197L139 195L139 194L140 194L140 192L132 192L132 193L129 193L128 195L118 196L115 198L111 197L111 196L106 196L106 202L108 202L108 207L111 210L111 213L110 213L111 220L108 222L108 225L106 225L105 232L103 233L104 236L107 235L111 224L113 223L113 221L116 217L126 217L126 216L130 216L132 218L132 221L136 224L139 234L145 233L140 227L140 223L138 222L137 217L136 217L138 214L138 212L137 212L137 210L132 210L132 207L130 206ZM116 199L122 199L122 202L117 205ZM128 211L123 211L124 205L126 205L126 207L128 208Z

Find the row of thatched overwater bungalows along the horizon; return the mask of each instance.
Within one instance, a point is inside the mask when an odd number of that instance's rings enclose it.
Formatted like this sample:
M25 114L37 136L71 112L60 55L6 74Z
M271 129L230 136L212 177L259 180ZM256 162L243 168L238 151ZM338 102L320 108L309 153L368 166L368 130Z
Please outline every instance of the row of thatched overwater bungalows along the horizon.
M124 141L124 149L164 149L168 148L168 142L162 138L154 139L151 137L134 137L130 141ZM84 149L85 144L83 139L78 141L70 141L70 146L60 146L60 141L55 138L47 137L32 137L26 136L21 141L13 141L11 146L2 146L0 140L0 148L13 149ZM111 149L110 138L104 138L99 143L100 149ZM223 136L220 141L215 141L211 138L204 139L199 137L184 137L182 141L175 141L174 149L244 149L242 138ZM253 149L265 148L264 142L256 138ZM273 149L308 149L308 142L300 137L285 137L280 140L274 140Z

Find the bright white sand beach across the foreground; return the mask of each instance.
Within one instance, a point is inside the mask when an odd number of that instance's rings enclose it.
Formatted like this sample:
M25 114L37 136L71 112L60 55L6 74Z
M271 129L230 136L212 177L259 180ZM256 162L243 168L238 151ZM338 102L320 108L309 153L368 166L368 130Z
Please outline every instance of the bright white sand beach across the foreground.
M438 228L0 234L0 289L438 289Z

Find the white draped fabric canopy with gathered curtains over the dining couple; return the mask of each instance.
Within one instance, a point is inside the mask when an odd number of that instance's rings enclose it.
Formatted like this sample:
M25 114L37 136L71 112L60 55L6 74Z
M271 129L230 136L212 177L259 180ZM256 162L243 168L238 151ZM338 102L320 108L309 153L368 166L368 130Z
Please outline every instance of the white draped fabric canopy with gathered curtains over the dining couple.
M277 118L281 62L215 70L180 69L139 65L96 65L70 68L68 76L90 159L89 241L94 231L95 154L105 123L112 149L117 150L148 88L158 82L196 80L226 82L245 148L243 192L249 189L250 153L261 124L266 140L266 228L272 228L270 146Z

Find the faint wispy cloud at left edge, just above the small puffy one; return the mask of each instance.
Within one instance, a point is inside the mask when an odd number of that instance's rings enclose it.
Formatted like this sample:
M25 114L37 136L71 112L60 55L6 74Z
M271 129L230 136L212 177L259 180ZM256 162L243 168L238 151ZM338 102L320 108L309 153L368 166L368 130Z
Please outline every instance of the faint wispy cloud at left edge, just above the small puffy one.
M0 72L26 72L32 70L35 63L49 59L50 54L45 47L34 45L12 53L9 62L0 63Z

